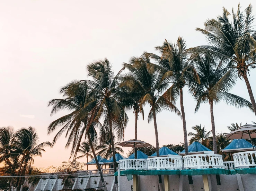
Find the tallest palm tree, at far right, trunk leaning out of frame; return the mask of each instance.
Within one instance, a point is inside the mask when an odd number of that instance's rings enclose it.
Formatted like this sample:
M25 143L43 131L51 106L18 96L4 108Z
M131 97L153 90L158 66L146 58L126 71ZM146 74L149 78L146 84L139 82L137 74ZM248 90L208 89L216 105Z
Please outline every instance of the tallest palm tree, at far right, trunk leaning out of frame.
M232 21L230 13L223 8L223 15L217 19L206 20L205 28L196 28L205 34L206 39L212 46L199 46L190 49L191 52L200 52L212 55L222 63L227 63L227 72L215 84L211 90L211 97L217 98L219 91L228 92L236 82L237 77L243 78L249 93L253 110L256 115L256 103L247 77L250 68L256 64L256 31L253 30L253 17L251 4L241 11L238 4L237 14L232 9Z

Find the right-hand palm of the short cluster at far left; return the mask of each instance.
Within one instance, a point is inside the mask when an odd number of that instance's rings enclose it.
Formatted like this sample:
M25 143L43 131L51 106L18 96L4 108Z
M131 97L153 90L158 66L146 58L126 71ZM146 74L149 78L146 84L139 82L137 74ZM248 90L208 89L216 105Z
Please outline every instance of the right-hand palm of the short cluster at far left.
M24 176L28 167L32 167L34 157L42 157L44 148L52 146L50 142L38 143L38 134L33 127L21 128L14 134L14 144L21 153L21 163L18 171L19 176ZM20 187L24 182L24 177L18 177L16 187Z

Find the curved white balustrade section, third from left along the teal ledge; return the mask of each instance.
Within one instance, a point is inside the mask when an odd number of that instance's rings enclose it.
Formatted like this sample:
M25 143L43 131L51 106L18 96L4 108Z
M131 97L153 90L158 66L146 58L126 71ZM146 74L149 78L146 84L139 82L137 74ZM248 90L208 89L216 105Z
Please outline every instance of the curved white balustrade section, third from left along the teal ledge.
M183 159L185 169L224 168L220 154L192 154Z

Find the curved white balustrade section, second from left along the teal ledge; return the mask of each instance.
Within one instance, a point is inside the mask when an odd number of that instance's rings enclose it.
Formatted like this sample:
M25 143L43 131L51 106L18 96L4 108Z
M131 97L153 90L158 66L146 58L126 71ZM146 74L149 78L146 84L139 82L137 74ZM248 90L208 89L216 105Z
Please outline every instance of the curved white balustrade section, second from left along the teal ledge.
M168 157L152 157L147 159L148 169L183 169L182 157L169 154Z

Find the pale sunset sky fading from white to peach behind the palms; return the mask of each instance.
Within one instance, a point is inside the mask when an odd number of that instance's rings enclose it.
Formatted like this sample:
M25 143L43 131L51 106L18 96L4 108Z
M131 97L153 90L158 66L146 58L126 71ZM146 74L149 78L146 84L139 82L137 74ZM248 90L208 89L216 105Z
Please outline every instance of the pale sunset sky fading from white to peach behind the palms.
M222 14L222 7L237 10L237 0L214 1L2 1L0 6L0 127L34 127L39 142L52 141L48 125L65 111L50 116L48 101L61 98L59 90L68 82L87 78L88 63L107 58L115 73L123 62L143 51L157 53L156 46L167 39L185 38L187 48L206 44L203 28L206 19ZM251 1L241 3L244 10ZM256 3L253 4L256 6ZM256 7L253 10L256 15ZM255 21L256 25L256 21ZM256 96L256 70L249 81ZM210 105L195 114L196 102L184 91L187 131L194 125L211 130ZM249 100L244 81L238 80L231 93ZM176 106L180 108L177 102ZM149 108L145 107L145 116ZM125 140L134 138L134 115L129 115ZM221 102L214 105L215 128L228 132L231 123L255 121L248 109L237 109ZM159 144L184 142L182 120L164 111L157 115ZM155 145L153 122L139 116L138 139ZM69 160L70 149L60 138L53 148L46 148L36 167L59 166ZM127 148L124 148L124 155ZM85 162L86 159L81 159Z

